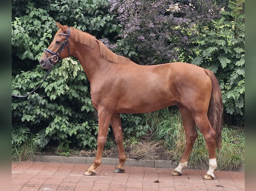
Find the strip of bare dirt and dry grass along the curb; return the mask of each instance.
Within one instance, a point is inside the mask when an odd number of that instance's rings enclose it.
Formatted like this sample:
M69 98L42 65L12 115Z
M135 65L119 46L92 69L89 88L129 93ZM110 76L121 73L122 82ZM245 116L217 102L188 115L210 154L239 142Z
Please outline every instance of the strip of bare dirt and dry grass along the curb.
M174 160L172 151L168 151L164 146L164 141L155 141L150 136L125 139L126 158L140 160ZM44 155L77 156L77 157L95 157L97 149L92 150L63 150L59 147L43 151ZM105 148L103 157L118 158L118 147L115 140L111 141L111 147Z

